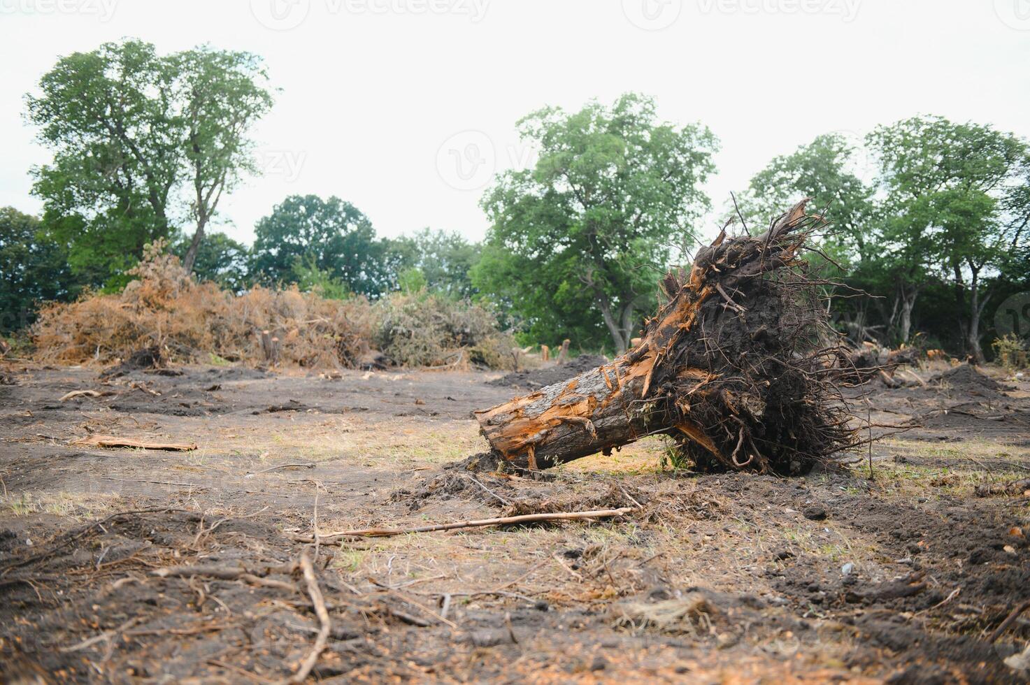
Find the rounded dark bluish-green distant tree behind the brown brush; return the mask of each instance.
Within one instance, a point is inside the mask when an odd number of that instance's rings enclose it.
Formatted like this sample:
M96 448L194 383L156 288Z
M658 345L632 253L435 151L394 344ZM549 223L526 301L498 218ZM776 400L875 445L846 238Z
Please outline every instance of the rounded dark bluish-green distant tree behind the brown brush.
M397 255L368 217L337 197L293 195L254 227L253 271L267 282L296 281L315 269L353 293L376 297L392 286Z

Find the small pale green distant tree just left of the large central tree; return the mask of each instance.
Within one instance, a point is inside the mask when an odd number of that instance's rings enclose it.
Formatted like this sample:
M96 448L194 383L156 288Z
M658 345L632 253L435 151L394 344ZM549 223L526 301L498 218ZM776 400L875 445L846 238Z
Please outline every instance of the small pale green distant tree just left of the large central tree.
M426 228L413 236L397 238L390 245L402 274L404 270L417 269L426 289L452 298L475 294L471 271L482 250L478 243L469 242L458 233Z

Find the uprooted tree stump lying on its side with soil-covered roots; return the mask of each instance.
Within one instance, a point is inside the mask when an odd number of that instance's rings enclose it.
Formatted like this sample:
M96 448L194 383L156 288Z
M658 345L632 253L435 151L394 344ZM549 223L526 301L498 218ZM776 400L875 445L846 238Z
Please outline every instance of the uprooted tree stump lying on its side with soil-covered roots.
M477 412L493 456L546 469L665 434L700 470L793 475L858 444L824 282L802 258L825 226L806 202L761 235L723 230L668 273L667 301L622 356Z

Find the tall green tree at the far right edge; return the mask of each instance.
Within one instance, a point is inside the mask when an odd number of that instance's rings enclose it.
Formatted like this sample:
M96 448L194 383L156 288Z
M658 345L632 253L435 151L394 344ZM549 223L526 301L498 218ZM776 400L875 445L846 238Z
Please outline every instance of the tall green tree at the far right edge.
M950 281L967 351L984 358L985 278L1025 248L1030 150L1025 140L941 116L878 127L884 232L902 289L902 339L928 277Z

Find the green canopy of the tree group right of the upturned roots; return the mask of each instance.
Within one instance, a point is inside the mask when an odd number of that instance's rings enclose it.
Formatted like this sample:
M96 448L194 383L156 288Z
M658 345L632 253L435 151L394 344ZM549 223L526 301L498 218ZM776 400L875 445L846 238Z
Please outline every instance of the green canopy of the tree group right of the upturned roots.
M956 342L983 358L989 302L1009 287L1005 278L1025 280L1026 141L920 116L878 127L865 144L878 165L873 178L849 170L855 150L842 137L819 136L759 171L745 205L763 215L787 197L812 196L826 207L833 229L824 246L848 266L849 284L876 296L834 304L856 342L873 331L885 342L911 342L917 300L933 290L927 321L950 312L936 332L958 331Z

